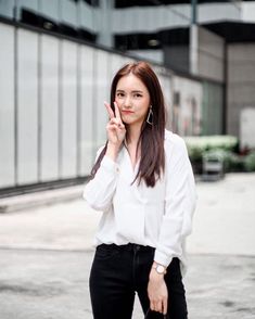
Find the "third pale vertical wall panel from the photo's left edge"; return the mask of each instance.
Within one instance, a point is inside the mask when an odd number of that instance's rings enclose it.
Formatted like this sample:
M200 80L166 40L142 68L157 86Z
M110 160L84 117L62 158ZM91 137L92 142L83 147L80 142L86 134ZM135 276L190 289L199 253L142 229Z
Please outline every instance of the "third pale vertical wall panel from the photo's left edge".
M59 40L41 36L40 180L59 177Z

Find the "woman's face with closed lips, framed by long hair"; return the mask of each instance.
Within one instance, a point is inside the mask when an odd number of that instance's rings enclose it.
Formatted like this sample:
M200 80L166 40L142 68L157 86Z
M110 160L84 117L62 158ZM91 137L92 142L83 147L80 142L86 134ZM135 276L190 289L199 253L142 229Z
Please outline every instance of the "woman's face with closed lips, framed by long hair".
M115 101L125 124L142 125L150 107L150 93L136 75L130 73L118 80Z

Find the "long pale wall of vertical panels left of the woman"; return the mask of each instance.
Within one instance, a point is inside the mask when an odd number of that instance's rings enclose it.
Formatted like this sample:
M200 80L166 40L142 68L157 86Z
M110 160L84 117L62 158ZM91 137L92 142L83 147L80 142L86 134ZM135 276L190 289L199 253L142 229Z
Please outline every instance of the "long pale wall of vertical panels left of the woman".
M88 176L113 74L132 59L3 23L0 38L0 189Z

